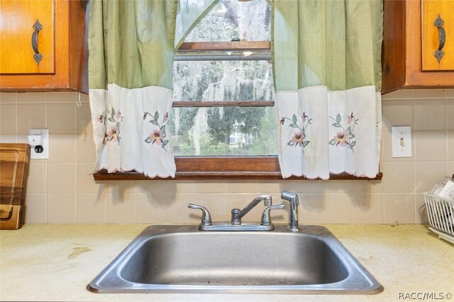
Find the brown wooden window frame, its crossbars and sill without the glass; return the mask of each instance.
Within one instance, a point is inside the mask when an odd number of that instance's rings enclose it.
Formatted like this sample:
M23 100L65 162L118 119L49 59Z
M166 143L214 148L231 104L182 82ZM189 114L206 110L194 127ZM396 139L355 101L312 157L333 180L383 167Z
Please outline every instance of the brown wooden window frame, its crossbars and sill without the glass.
M231 42L185 42L179 47L178 55L206 55L209 53L224 54L226 52L259 52L261 55L271 55L270 41L231 41ZM231 59L232 60L232 59ZM238 60L238 58L233 59ZM257 60L243 58L239 60ZM172 107L184 106L274 106L273 101L175 101ZM177 172L175 178L160 178L162 180L283 180L277 155L269 156L175 156ZM106 170L94 173L94 179L103 180L153 180L138 172L108 173ZM305 177L289 177L287 179L306 179ZM354 177L350 174L330 174L330 179L367 179ZM379 172L374 179L382 179Z

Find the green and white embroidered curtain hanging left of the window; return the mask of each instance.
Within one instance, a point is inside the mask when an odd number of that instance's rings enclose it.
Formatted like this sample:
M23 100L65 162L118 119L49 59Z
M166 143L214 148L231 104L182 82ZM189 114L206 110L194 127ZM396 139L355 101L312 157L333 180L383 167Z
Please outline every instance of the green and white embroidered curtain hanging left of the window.
M167 123L176 15L176 0L90 1L94 172L175 177Z

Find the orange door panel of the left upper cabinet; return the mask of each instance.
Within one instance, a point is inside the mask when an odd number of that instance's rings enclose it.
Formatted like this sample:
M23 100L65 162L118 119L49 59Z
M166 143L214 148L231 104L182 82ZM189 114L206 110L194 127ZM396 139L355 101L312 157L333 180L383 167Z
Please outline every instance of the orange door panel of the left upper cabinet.
M1 74L54 72L53 13L53 0L0 0ZM37 21L40 30L33 28ZM35 51L42 55L39 64Z

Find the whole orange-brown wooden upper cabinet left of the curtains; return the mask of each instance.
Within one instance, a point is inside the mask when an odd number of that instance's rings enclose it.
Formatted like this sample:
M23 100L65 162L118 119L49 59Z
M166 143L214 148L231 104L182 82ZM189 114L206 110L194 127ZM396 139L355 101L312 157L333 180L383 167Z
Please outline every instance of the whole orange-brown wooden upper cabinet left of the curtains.
M0 90L87 93L86 8L79 0L0 0Z

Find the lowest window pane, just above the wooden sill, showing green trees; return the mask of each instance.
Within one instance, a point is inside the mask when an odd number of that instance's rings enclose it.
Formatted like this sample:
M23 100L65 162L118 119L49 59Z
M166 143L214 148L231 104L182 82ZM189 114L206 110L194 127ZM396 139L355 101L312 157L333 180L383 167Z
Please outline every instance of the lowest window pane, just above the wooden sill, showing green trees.
M172 110L175 155L276 155L273 107L183 107Z

